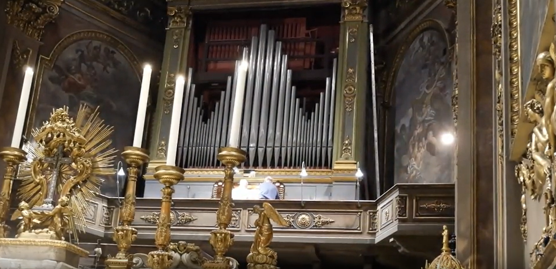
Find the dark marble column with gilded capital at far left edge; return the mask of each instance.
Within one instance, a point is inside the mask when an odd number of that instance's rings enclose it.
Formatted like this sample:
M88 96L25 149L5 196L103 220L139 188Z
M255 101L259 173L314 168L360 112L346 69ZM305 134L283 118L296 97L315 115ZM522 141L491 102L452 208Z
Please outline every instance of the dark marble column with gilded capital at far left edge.
M24 68L36 69L44 27L59 14L63 0L8 0L0 19L0 145L10 146L16 121ZM5 14L5 17L3 17ZM30 104L30 103L29 103ZM0 171L5 164L0 162ZM0 182L1 184L1 182Z

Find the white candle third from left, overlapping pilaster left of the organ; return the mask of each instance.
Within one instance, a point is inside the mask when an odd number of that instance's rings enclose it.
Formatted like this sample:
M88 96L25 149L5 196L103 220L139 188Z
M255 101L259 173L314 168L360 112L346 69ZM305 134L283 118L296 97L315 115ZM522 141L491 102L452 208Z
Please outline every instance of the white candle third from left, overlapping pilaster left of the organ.
M180 130L181 105L183 103L183 88L185 87L185 78L180 75L176 80L176 88L174 90L174 104L172 106L172 118L170 121L170 134L168 134L168 145L166 151L166 165L176 165L177 154L177 135Z

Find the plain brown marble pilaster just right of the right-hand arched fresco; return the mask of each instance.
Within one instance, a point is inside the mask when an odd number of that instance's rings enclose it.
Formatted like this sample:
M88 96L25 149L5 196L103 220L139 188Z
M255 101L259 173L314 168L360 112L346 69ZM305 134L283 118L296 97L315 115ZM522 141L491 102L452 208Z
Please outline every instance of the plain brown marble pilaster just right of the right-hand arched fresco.
M457 2L458 152L456 256L470 269L494 268L495 103L493 0ZM494 130L493 130L494 129Z

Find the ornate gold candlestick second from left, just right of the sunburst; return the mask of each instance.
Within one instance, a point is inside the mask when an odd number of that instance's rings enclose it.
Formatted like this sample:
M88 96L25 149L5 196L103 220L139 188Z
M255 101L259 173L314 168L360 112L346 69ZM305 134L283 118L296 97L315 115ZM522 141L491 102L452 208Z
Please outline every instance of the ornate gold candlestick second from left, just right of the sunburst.
M135 146L123 148L122 157L128 164L127 168L127 187L123 205L120 209L121 225L114 228L113 240L118 246L116 257L108 255L106 266L110 269L130 269L133 265L133 256L128 254L131 244L137 238L137 230L131 227L135 220L135 191L137 186L137 175L141 166L148 163L148 151Z

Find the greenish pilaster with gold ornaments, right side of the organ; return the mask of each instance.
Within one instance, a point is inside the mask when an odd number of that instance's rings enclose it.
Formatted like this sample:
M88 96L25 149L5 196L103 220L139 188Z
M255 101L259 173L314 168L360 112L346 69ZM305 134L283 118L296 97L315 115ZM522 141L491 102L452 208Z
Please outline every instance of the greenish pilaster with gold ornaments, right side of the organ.
M342 0L336 82L334 164L336 171L355 170L365 155L365 103L369 63L367 1Z

